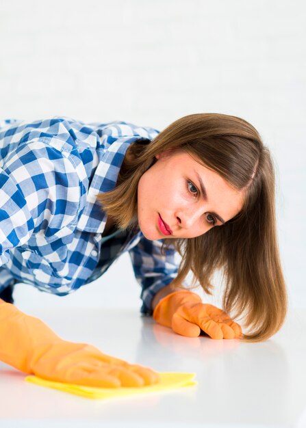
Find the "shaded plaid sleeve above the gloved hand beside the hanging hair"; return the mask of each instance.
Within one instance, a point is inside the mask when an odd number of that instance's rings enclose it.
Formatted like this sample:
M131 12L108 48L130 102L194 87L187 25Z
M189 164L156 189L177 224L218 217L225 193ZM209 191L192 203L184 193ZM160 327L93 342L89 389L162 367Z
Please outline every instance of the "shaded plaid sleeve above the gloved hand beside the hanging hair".
M152 315L152 299L160 289L170 284L177 276L179 263L174 248L162 254L163 240L149 241L145 237L129 250L136 280L142 287L141 299L143 314ZM184 282L185 284L185 282Z

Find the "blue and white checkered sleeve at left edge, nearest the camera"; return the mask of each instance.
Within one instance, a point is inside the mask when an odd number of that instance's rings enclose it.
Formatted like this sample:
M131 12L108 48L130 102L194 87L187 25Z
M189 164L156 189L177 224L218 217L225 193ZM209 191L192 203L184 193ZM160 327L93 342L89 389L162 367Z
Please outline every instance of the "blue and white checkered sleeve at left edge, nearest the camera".
M79 178L62 152L35 139L21 144L0 168L0 266L33 232L52 236L79 206Z

